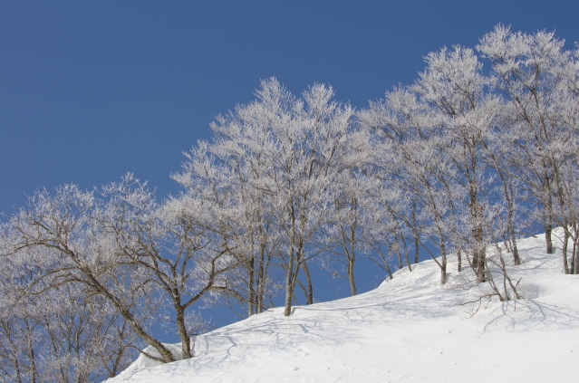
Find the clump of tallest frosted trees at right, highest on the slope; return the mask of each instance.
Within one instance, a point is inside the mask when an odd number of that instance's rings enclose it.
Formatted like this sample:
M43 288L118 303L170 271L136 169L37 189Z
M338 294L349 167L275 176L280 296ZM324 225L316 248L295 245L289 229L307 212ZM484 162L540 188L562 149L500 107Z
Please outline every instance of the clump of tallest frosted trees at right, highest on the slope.
M420 238L438 247L440 282L449 249L458 271L467 255L479 282L487 280L489 244L504 242L520 263L516 236L533 222L525 215L543 223L549 253L553 225L566 227L564 248L576 237L564 174L576 158L577 60L563 44L554 34L498 25L477 47L489 75L474 51L444 48L425 57L414 84L358 113L385 152L379 177L410 196L397 219L415 248Z

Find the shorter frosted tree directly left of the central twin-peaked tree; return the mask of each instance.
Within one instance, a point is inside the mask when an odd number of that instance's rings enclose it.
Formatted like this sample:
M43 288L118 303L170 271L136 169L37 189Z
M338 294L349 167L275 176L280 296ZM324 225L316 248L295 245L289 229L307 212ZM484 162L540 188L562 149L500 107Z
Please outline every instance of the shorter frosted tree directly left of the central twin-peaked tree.
M260 184L266 179L264 157L251 151L257 137L244 137L234 127L220 130L217 124L213 130L213 143L201 141L185 153L183 171L172 177L186 188L182 198L204 201L207 231L236 259L238 267L227 273L224 289L213 298L225 296L245 306L239 313L245 317L271 307L278 235L271 201Z

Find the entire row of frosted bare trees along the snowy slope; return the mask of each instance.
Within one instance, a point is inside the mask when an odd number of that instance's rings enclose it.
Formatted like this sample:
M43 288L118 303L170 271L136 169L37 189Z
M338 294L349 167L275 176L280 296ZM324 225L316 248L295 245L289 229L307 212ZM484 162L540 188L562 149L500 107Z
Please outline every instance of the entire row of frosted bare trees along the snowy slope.
M465 261L495 286L501 251L519 264L516 238L543 225L553 253L560 225L563 270L579 273L579 50L498 25L477 52L429 53L414 84L365 110L322 84L297 98L262 81L186 153L172 175L182 192L161 202L130 174L36 193L0 235L4 379L114 376L141 342L153 359L191 358L196 302L250 316L284 292L288 316L302 292L314 302L314 265L343 264L356 294L360 254L392 278L428 253L440 283L457 254L458 272ZM159 321L182 355L159 341Z

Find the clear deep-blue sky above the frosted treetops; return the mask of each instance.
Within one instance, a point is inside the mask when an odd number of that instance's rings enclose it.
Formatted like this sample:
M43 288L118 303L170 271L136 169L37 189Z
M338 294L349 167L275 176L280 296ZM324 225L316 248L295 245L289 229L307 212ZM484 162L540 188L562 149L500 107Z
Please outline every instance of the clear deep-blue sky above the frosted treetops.
M295 94L329 83L362 108L413 81L427 53L474 47L498 23L556 30L571 48L578 14L577 0L2 2L0 212L127 171L176 193L181 152L260 79Z

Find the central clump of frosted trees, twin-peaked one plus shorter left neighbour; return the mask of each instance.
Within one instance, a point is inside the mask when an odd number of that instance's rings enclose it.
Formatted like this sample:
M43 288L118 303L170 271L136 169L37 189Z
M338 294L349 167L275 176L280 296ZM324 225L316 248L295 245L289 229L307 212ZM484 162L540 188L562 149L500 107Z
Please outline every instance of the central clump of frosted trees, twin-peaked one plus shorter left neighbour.
M246 292L236 289L236 296L248 314L266 307L273 282L266 272L275 265L283 270L289 315L297 286L308 303L314 300L309 265L325 247L333 206L343 200L336 186L371 154L366 134L352 125L352 107L332 101L331 88L316 84L301 100L270 79L256 96L219 117L214 142L194 148L174 178L227 215L223 235L246 263L246 280L236 279ZM199 190L205 186L210 193Z

